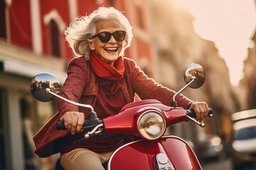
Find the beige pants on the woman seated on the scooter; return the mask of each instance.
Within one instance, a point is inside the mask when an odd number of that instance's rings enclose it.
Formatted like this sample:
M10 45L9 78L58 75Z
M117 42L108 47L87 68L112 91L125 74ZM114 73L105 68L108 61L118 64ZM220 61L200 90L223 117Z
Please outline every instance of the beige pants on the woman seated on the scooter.
M74 149L60 155L60 164L65 170L104 170L102 164L110 159L112 152L97 154L85 148Z

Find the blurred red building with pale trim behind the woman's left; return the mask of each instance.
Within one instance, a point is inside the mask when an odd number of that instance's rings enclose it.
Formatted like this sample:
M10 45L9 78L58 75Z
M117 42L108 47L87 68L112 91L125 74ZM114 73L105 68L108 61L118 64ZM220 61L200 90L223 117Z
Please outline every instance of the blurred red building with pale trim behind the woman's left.
M55 102L35 101L31 79L48 72L65 81L65 70L75 57L63 32L75 16L99 6L114 6L134 26L132 47L126 51L154 76L154 49L146 2L111 0L0 0L0 169L52 169L55 157L33 154L33 135L57 111Z

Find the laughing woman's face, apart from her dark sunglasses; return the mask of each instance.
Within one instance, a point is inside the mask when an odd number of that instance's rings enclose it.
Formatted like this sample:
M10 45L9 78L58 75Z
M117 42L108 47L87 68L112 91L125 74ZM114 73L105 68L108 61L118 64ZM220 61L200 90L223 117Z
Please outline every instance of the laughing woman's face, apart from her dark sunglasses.
M117 30L124 30L122 25L120 25L117 21L100 21L96 23L95 35L104 31L114 33ZM113 36L111 36L109 42L101 42L98 37L95 37L89 42L89 46L90 50L95 50L101 60L108 64L114 64L114 61L119 57L123 43L124 41L117 42L117 40L114 40Z

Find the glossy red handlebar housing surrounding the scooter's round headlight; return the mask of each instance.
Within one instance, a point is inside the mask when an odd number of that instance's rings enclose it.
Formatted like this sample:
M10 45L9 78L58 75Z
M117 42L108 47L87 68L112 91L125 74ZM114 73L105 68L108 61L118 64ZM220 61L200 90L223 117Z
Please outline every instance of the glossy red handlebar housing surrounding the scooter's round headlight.
M146 111L155 111L164 116L166 127L186 120L183 108L165 106L154 99L137 101L124 106L117 115L103 118L106 133L132 134L144 138L137 129L139 115Z

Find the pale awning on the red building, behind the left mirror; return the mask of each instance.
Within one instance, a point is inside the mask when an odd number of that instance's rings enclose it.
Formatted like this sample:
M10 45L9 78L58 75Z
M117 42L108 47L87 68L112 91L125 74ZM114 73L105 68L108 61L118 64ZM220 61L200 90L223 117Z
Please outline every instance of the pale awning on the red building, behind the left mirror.
M26 62L18 62L18 61L11 61L11 60L4 60L4 72L11 73L11 74L18 74L23 77L35 77L37 74L41 73L48 73L52 74L56 79L60 81L60 84L63 84L67 74L66 72L60 72L58 70L36 66L33 64L29 64Z

